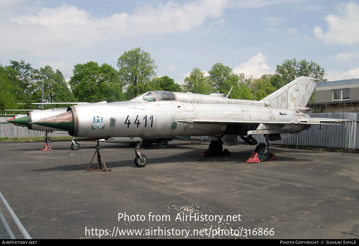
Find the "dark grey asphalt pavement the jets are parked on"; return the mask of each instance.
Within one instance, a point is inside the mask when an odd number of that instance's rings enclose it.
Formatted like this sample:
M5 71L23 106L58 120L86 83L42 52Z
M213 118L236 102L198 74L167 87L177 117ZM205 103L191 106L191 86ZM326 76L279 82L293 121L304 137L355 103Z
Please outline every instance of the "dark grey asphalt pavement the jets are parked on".
M0 143L0 191L34 239L358 239L358 153L272 147L247 164L253 146L201 157L208 143L174 140L141 147L139 168L134 147L100 143L111 171L84 172L96 143L79 143Z

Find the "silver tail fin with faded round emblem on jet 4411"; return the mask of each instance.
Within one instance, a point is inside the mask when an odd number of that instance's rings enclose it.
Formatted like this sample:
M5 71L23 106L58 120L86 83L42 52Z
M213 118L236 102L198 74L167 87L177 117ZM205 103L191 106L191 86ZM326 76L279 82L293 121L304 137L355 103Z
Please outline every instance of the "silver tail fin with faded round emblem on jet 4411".
M276 90L262 101L266 106L274 108L303 108L305 107L319 82L311 77L298 77L292 82Z

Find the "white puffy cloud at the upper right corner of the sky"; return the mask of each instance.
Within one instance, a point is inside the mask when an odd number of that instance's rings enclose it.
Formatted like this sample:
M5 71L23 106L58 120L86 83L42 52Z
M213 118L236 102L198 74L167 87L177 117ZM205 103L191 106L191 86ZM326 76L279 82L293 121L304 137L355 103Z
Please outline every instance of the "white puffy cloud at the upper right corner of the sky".
M340 16L327 15L328 32L321 27L314 27L314 35L326 44L355 44L359 42L359 5L354 2L338 6Z

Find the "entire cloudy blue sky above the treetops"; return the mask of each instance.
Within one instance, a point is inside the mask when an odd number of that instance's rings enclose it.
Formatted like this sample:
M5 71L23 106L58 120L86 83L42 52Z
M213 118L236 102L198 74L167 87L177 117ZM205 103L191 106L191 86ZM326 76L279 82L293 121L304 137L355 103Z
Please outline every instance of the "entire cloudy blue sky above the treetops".
M0 62L116 67L141 47L177 83L222 62L257 78L286 59L318 63L328 80L359 78L359 1L0 0Z

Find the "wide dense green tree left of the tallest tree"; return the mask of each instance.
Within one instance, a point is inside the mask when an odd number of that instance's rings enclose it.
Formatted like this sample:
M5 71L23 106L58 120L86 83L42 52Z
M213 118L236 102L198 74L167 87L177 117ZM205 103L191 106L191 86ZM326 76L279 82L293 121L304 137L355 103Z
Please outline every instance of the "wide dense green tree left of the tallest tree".
M78 101L122 101L122 82L115 68L104 63L90 61L74 66L74 76L69 84Z

